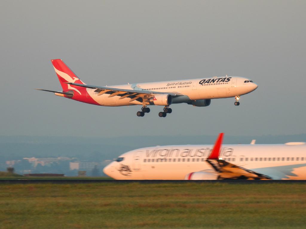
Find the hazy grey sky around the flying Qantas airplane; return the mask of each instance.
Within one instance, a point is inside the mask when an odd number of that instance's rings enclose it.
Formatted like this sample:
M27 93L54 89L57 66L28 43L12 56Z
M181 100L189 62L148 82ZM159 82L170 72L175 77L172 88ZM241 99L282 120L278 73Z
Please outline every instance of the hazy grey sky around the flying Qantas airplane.
M306 1L1 1L0 135L266 135L306 132ZM243 76L259 87L209 107L102 107L61 90L50 60L116 85Z

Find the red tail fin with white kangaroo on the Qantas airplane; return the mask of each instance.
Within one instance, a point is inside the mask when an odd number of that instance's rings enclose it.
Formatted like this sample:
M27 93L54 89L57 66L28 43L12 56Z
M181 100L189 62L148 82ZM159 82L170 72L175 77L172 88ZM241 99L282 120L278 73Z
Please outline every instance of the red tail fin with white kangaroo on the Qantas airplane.
M51 60L51 63L63 90L74 89L67 82L84 84L61 59Z

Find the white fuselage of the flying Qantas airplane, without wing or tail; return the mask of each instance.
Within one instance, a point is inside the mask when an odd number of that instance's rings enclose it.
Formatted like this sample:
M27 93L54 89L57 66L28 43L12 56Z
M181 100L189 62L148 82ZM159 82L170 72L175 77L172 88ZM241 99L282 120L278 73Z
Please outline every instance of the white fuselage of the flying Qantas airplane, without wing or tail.
M248 81L248 82L246 82ZM174 97L173 103L187 103L192 100L229 98L244 95L254 91L257 84L243 77L213 77L164 82L112 85L111 88L132 89L139 91L177 93L184 96ZM88 95L102 106L142 105L130 98L120 99L120 96L109 97L109 94L98 95L96 89L87 88Z

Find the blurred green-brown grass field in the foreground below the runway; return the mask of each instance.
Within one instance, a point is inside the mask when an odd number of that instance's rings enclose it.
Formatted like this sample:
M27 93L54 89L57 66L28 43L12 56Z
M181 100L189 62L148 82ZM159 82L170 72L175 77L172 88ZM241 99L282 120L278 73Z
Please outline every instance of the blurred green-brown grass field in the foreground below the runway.
M306 184L0 184L0 228L305 228Z

